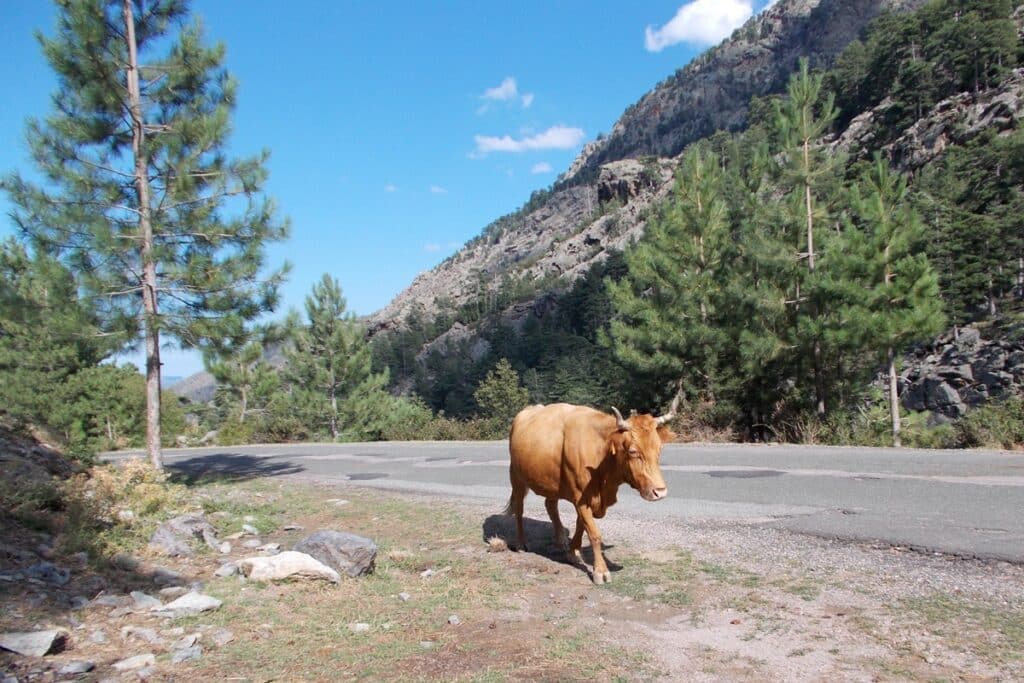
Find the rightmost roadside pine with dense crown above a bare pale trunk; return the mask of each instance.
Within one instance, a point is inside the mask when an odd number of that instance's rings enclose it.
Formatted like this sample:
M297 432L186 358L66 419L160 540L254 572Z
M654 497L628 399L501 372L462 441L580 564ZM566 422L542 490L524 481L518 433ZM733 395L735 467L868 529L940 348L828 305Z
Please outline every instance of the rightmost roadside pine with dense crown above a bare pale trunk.
M938 334L945 319L938 276L921 250L924 227L906 178L874 162L850 191L853 221L844 253L848 282L856 287L844 315L857 346L885 354L893 445L900 445L896 357L909 343Z

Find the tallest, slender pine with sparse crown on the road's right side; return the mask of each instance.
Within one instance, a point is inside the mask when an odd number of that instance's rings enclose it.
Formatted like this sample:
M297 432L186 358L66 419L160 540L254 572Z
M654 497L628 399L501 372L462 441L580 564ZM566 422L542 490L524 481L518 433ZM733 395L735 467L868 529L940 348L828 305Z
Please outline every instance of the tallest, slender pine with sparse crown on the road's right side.
M794 272L792 303L796 312L794 341L811 357L814 395L818 417L826 411L825 336L829 313L826 287L828 274L818 272L819 255L827 232L821 224L827 215L822 201L824 185L835 173L838 160L826 156L816 141L828 130L838 116L831 93L822 98L822 77L811 75L806 58L800 72L790 79L788 96L776 103L775 125L782 144L781 183L787 193L787 206L795 234L795 261L804 261L806 271ZM815 243L817 240L817 244Z

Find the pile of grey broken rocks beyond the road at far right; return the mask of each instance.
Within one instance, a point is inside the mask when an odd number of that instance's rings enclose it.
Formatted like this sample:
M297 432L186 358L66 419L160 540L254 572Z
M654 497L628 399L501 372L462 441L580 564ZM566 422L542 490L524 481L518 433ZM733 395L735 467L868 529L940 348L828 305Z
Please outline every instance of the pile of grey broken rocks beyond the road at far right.
M966 328L904 362L900 403L908 411L958 418L989 398L1024 394L1024 341L984 340Z

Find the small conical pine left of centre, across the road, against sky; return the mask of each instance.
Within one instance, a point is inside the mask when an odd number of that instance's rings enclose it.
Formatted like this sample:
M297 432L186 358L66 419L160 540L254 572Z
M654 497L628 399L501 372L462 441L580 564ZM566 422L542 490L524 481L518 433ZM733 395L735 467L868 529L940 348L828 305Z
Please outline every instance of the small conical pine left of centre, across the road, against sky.
M387 372L373 372L364 327L346 312L341 286L325 274L306 297L308 325L296 333L285 374L298 413L331 438L378 437L391 397Z

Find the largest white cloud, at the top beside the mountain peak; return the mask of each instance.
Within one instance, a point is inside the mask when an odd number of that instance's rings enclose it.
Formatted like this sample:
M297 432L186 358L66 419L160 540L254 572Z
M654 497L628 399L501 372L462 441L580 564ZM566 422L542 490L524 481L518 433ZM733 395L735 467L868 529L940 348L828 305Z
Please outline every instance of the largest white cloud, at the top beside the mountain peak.
M647 27L644 47L660 52L677 43L713 45L727 38L754 14L748 0L692 0L659 29Z

